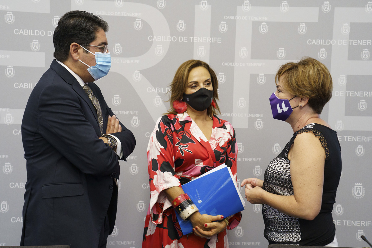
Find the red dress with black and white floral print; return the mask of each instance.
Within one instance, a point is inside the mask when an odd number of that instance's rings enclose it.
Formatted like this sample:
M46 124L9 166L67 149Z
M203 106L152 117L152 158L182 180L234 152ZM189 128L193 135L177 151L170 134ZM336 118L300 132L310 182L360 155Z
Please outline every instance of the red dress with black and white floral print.
M186 112L160 117L147 147L150 206L142 247L228 247L226 230L210 239L183 235L163 190L181 186L224 163L236 180L236 157L235 132L229 122L213 116L208 141ZM227 229L237 226L240 219L241 213L230 216Z

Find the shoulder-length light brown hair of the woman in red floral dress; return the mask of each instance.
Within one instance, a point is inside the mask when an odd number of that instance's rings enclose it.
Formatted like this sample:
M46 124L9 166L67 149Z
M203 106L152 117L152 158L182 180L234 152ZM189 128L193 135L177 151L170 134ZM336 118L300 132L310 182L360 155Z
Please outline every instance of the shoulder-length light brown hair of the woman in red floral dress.
M174 110L173 102L175 100L182 100L183 99L183 93L185 93L187 88L187 79L189 78L190 71L193 68L196 67L204 67L206 70L208 70L209 74L211 75L211 81L213 86L213 100L216 104L216 108L214 108L211 104L211 106L207 109L207 115L212 116L212 114L216 115L217 112L221 113L219 110L217 101L218 100L218 81L216 73L212 70L211 67L206 62L203 62L201 60L196 59L190 59L186 62L183 62L180 67L178 67L176 74L174 75L173 81L170 83L170 98L168 102L170 102L170 110L166 114L177 114L176 110Z

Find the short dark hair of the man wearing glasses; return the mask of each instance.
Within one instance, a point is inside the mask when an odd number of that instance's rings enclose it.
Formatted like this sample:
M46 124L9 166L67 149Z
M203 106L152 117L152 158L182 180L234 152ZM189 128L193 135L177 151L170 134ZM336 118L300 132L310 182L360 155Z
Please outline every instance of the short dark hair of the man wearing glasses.
M96 32L100 29L106 33L109 25L97 15L80 10L65 13L54 30L54 58L61 62L66 61L71 43L90 44L96 39Z

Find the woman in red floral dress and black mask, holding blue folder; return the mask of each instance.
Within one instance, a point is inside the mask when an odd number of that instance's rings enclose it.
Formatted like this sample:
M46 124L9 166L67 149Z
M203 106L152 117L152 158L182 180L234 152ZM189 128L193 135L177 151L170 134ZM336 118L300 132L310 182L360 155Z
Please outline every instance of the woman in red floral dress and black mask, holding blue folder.
M229 122L215 115L219 112L217 88L215 72L199 60L184 62L173 78L173 108L157 120L147 148L150 205L143 248L228 247L225 229L240 222L240 212L201 215L182 190L183 184L221 164L230 167L236 180L235 132ZM179 212L172 203L180 202L183 210ZM192 233L182 234L175 211L191 221Z

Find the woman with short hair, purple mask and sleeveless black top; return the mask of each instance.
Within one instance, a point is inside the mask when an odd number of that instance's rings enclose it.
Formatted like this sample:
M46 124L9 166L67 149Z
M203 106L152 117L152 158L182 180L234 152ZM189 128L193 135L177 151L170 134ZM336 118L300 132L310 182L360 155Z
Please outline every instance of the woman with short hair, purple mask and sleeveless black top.
M263 204L264 236L269 244L338 246L332 218L341 175L336 131L320 119L332 96L332 78L313 58L282 65L270 97L275 119L294 132L266 169L264 181L247 178L248 202Z

